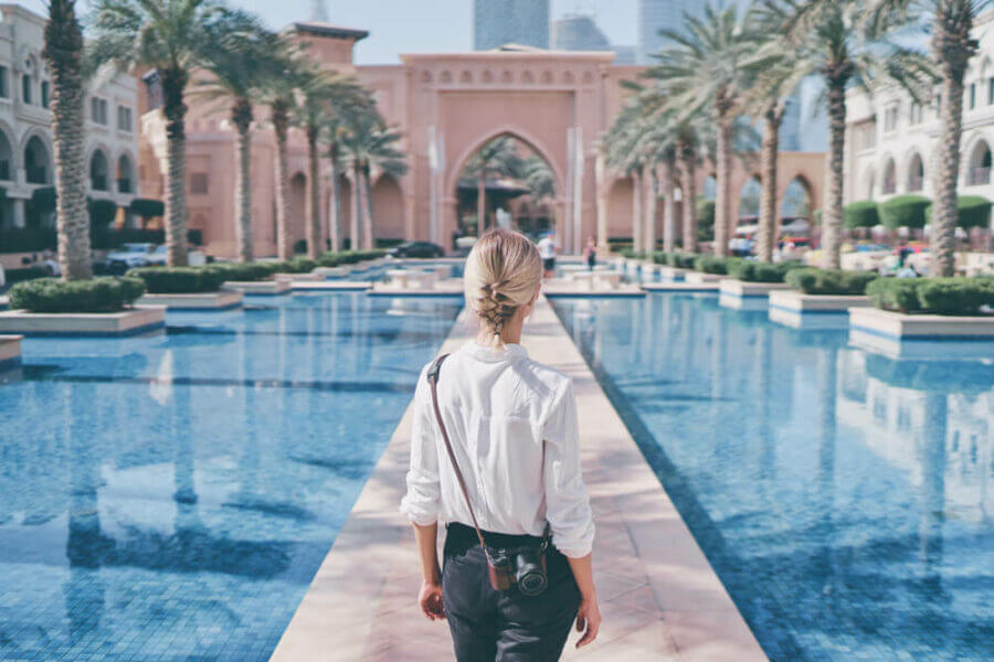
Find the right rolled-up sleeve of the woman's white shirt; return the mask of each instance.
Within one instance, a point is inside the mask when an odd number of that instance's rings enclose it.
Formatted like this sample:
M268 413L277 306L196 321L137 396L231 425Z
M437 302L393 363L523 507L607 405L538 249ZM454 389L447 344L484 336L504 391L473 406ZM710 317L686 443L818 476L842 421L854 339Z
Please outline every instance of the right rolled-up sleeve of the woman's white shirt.
M590 554L594 524L590 496L580 472L577 397L568 381L546 419L546 519L552 544L572 558Z

